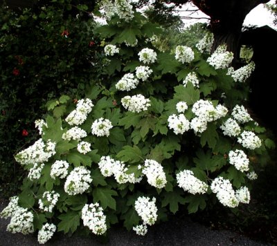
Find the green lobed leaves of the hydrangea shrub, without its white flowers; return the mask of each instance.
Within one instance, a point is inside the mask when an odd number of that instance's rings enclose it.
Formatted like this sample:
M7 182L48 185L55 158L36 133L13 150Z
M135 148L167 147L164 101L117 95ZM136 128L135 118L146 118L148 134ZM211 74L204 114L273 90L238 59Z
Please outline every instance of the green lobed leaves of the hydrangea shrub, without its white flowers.
M81 140L63 138L63 134L75 126L69 124L66 117L75 110L78 100L71 100L72 96L59 95L58 99L55 98L46 104L47 126L43 127L42 140L55 142L55 154L44 163L42 175L38 180L31 181L25 178L22 192L19 194L19 205L33 209L37 213L36 229L45 223L46 218L49 221L53 220L57 225L57 231L64 231L65 234L73 234L77 229L84 229L81 219L82 208L91 203L98 203L102 207L103 213L107 216L107 226L121 221L127 229L132 229L141 223L141 216L135 209L136 200L141 196L156 199L154 201L159 211L158 219L161 220L170 213L175 214L180 207L186 207L189 214L195 213L208 205L213 206L215 196L211 194L210 186L219 176L230 180L235 189L249 187L246 172L239 171L230 164L229 151L243 149L249 157L249 169L252 171L256 170L257 163L262 158L267 158L267 149L274 148L274 142L265 136L265 129L256 126L254 122L240 124L240 127L242 131L255 131L259 135L262 140L259 149L248 150L238 143L237 137L223 134L220 126L231 117L235 104L241 104L247 97L247 89L244 88L247 86L235 83L232 77L226 75L226 69L215 70L206 62L206 55L201 55L196 50L193 61L181 64L175 59L175 55L159 52L150 42L145 43L145 39L159 34L160 31L159 26L149 23L148 19L137 12L134 13L134 19L129 22L120 21L119 17L115 16L107 25L97 28L98 35L105 39L102 41L103 46L114 44L120 48L120 52L108 57L108 60L102 57L99 67L91 73L94 83L78 86L81 91L83 90L85 97L93 102L91 111L82 115L86 120L78 124L78 127L87 133L82 141L91 144L91 151L88 153L80 153L78 150ZM149 64L152 74L145 81L140 81L131 91L118 91L116 83L125 72L134 72L137 66L143 65L137 54L145 47L157 52L157 61ZM97 50L95 52L96 56L101 57L104 51L100 50L100 54ZM188 82L186 87L182 84L182 80L190 71L194 71L199 78L199 88L191 82ZM225 93L226 98L222 97L222 93ZM151 105L139 113L127 111L123 103L120 103L122 97L138 94L149 98ZM214 107L224 104L229 112L207 122L207 128L203 132L189 129L178 134L173 131L168 119L170 115L180 115L176 108L177 103L186 102L188 109L184 116L192 122L197 117L197 113L193 113L193 106L199 100L211 102ZM112 128L109 129L109 133L92 134L91 125L99 118L110 120ZM104 125L99 127L105 128ZM107 156L113 158L116 163L108 170L111 171L111 175L102 171L100 167L100 160ZM69 173L76 167L85 167L92 179L89 187L74 196L66 193L64 187L67 178L54 179L50 175L55 160L69 162ZM154 172L144 175L146 160L154 160L161 165L166 177L163 187L158 187L162 177L154 180L155 186L149 177L154 175ZM26 171L30 171L32 167L32 163L24 165ZM185 170L192 171L198 182L207 185L204 193L193 193L190 189L181 187L177 175ZM120 176L117 176L118 172ZM134 178L134 182L125 182L126 176ZM69 185L72 186L72 183ZM37 200L44 191L56 191L60 194L51 213L44 213L38 206Z

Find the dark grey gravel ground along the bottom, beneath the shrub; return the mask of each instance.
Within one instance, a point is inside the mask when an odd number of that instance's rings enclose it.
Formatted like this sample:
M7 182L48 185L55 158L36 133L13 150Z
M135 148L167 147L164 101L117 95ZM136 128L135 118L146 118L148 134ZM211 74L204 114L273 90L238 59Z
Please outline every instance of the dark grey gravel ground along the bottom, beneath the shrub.
M6 200L0 200L0 211L6 207ZM39 245L35 234L24 236L23 234L11 234L6 231L9 220L0 219L0 245L33 246ZM96 245L265 245L258 243L233 231L215 231L204 225L194 223L190 218L173 218L172 220L149 227L146 236L136 236L134 231L124 228L111 228L108 231L107 243L100 243L96 236L91 238L67 237L56 234L46 245L59 246L96 246Z

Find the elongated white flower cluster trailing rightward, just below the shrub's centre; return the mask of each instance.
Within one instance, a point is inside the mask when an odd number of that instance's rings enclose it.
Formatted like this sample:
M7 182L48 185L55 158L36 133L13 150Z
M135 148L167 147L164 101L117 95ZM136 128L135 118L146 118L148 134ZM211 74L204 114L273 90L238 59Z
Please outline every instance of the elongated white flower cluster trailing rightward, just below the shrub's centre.
M102 176L110 177L114 175L116 182L119 184L129 183L136 183L140 182L141 178L136 178L134 173L126 173L127 167L123 162L119 160L114 160L109 156L102 156L100 162L98 162L98 166Z

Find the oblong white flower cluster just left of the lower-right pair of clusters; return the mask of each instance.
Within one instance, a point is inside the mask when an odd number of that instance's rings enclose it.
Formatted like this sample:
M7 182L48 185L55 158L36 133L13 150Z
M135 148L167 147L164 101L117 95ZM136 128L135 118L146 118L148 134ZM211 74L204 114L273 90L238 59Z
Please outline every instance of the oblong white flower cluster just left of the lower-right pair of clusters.
M181 171L177 173L176 178L178 186L183 188L184 191L188 191L193 195L195 195L196 193L204 194L208 190L208 185L205 182L199 180L198 178L195 178L193 171Z

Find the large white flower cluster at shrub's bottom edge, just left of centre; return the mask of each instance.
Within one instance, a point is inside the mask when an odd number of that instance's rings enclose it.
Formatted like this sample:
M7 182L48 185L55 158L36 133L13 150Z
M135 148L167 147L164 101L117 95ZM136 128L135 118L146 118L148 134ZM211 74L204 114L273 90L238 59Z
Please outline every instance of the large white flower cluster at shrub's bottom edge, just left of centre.
M93 234L102 235L107 231L106 216L97 202L84 205L82 220L84 226L89 227Z

